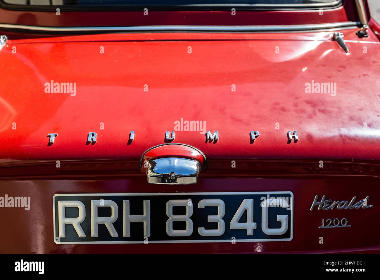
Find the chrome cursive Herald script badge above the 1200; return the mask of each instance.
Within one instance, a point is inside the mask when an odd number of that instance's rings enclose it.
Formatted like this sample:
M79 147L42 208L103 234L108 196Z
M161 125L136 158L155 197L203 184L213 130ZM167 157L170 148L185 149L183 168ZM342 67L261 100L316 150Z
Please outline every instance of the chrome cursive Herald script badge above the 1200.
M342 210L342 209L359 209L359 208L366 209L366 208L370 208L373 206L373 205L367 205L368 200L369 200L369 195L367 195L366 198L359 200L356 203L355 203L356 196L353 197L350 202L348 202L348 200L342 200L342 201L334 200L334 202L332 202L331 199L325 199L325 198L326 198L326 195L323 195L321 198L321 201L318 202L318 195L315 195L313 204L310 207L310 211L312 211L315 206L318 206L318 210L321 210L321 209L322 210L330 210L330 209L332 210L335 207L339 210Z

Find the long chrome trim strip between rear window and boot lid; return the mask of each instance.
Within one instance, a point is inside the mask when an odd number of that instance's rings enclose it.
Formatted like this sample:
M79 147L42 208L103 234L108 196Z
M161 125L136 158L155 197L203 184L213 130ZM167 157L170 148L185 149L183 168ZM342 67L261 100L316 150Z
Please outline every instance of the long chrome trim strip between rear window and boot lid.
M43 32L104 32L104 31L129 31L129 32L150 32L150 31L203 31L203 32L268 32L268 31L302 31L320 30L340 27L356 27L357 22L334 22L322 24L299 24L299 25L245 25L245 26L190 26L190 25L151 25L151 26L111 26L111 27L49 27L49 26L27 26L17 24L0 24L0 28L22 29Z

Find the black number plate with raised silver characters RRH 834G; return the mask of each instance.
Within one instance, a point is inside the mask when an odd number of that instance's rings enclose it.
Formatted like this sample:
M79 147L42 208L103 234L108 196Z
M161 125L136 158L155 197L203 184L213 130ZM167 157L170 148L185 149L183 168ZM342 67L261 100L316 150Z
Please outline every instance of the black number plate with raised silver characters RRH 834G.
M54 242L290 241L292 192L55 194Z

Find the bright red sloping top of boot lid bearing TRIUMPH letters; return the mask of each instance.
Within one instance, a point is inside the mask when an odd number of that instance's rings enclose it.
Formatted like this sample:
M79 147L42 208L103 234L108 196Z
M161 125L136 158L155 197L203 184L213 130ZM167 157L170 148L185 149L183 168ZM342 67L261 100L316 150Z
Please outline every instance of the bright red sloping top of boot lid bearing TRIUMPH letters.
M350 54L331 32L9 40L0 52L7 69L0 155L140 158L183 119L205 122L204 131L176 131L173 143L207 158L378 159L380 44L372 32L359 39L356 30L342 30ZM76 83L76 95L45 93L51 80ZM336 83L336 96L306 93L312 81ZM135 140L127 145L131 130ZM218 130L220 140L206 142L205 130ZM260 131L254 143L251 130ZM294 130L300 140L288 144L287 131ZM95 145L86 145L90 132L98 134ZM59 134L52 146L48 133Z

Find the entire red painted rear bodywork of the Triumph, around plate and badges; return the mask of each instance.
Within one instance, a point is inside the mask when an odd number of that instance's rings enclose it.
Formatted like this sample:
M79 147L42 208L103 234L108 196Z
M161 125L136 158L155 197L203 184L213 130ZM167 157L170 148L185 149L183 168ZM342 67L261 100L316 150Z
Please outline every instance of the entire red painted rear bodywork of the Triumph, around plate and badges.
M14 23L15 13L25 12L0 10L0 18ZM247 13L252 22L262 13L272 24L328 22L330 13L336 13L333 22L347 21L354 14L346 3L326 11L326 17L318 21L307 11ZM17 18L18 24L30 24L33 14L35 24L69 25L67 18L62 23L44 18L43 12L26 14L29 18ZM281 14L285 19L278 17ZM171 21L174 18L165 24L177 22ZM206 21L212 19L201 18L199 24ZM89 18L81 22L94 23ZM191 24L187 19L180 22ZM350 54L331 40L332 31L34 39L7 33L8 43L0 51L0 67L6 69L0 77L0 196L30 196L32 205L29 211L0 208L0 222L8 225L0 231L0 252L379 253L374 222L380 214L380 42L372 30L366 38L358 38L357 30L340 30ZM277 47L280 53L275 53ZM44 84L51 80L75 82L76 95L45 93ZM312 80L336 82L336 96L306 93L305 83ZM236 91L231 91L231 85ZM220 140L215 143L206 142L205 131L176 131L173 141L201 150L209 169L194 185L150 185L139 172L140 157L150 147L163 144L165 131L174 130L174 122L181 118L205 121L205 129L212 133L218 130ZM131 130L135 140L128 144ZM254 142L251 130L260 131ZM300 140L288 143L287 131L294 130ZM98 134L95 145L86 145L90 132ZM59 134L52 146L47 146L48 133ZM57 160L62 167L55 168ZM318 168L320 160L325 160L325 169ZM290 242L146 246L58 245L53 240L52 197L56 193L280 190L294 193ZM316 194L333 200L370 195L374 207L310 211ZM323 218L347 218L352 227L318 229ZM323 245L320 236L325 239Z

